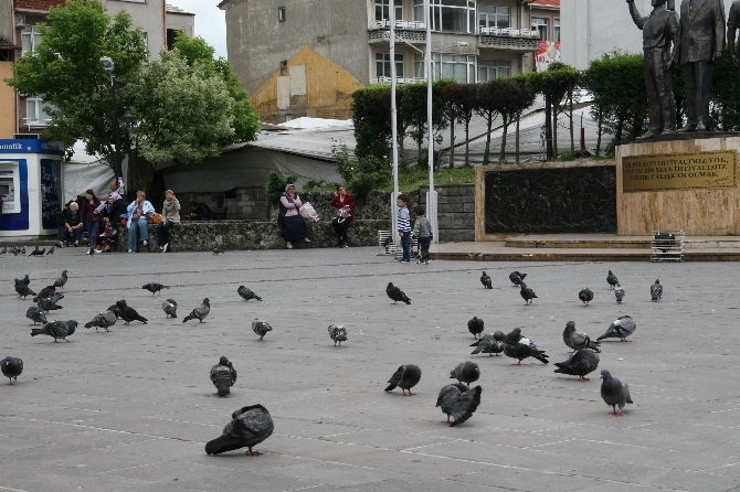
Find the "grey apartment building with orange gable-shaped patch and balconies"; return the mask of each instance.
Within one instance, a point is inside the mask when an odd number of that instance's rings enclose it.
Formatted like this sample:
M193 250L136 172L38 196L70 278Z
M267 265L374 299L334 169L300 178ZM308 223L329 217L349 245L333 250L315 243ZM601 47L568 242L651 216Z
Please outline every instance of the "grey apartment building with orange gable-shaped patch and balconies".
M349 117L357 87L424 81L423 0L223 0L229 60L263 120ZM535 69L560 41L560 0L430 0L434 78L485 82ZM461 46L456 44L466 43Z

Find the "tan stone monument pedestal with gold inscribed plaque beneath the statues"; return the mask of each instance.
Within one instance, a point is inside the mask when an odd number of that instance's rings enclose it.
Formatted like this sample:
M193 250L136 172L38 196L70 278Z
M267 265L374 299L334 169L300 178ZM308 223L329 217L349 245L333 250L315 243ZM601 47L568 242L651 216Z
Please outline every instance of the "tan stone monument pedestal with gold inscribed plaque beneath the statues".
M740 135L726 133L619 146L617 235L740 234L739 150Z

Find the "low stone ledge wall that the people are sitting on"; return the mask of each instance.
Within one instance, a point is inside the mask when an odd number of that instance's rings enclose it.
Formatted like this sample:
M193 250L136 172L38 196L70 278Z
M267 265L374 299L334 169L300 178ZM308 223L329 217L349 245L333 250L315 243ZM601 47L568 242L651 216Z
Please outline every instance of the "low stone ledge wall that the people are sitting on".
M157 252L157 226L149 225L149 247L141 250ZM378 231L391 228L391 221L355 221L349 228L350 246L377 246ZM337 236L331 221L308 223L308 234L314 247L335 247ZM119 249L126 250L128 229L120 227ZM234 249L279 249L285 248L281 227L276 222L256 221L210 221L184 222L170 229L172 252L208 252L219 246L224 250Z

